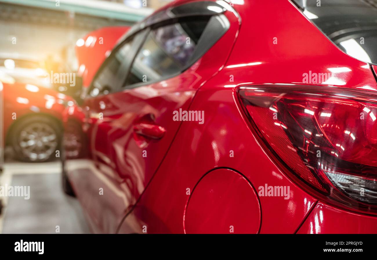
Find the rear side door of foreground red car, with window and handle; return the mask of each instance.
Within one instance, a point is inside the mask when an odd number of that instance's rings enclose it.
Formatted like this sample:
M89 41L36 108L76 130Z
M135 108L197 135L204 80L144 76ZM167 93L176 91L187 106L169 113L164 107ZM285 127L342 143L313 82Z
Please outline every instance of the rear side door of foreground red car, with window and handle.
M96 214L103 232L115 232L115 223L136 203L181 125L179 115L189 109L196 90L221 69L230 52L230 45L224 49L218 41L226 35L223 43L233 43L238 23L230 24L227 15L233 14L225 15L215 2L207 3L218 7L216 12L209 12L208 4L201 6L204 15L198 15L199 9L182 8L195 10L195 15L180 13L159 20L158 13L153 23L136 32L131 29L125 41L130 45L128 55L112 77L115 85L120 82L118 91L108 89L107 75L93 81L86 105L100 175L87 181L93 191L103 187L98 201L102 211ZM199 115L192 120L204 122Z

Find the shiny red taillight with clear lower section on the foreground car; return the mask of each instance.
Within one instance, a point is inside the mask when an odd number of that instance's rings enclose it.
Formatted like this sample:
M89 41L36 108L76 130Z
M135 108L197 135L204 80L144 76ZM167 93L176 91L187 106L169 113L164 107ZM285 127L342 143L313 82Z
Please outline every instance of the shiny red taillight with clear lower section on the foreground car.
M238 97L294 179L326 199L377 213L377 93L276 84L240 87Z

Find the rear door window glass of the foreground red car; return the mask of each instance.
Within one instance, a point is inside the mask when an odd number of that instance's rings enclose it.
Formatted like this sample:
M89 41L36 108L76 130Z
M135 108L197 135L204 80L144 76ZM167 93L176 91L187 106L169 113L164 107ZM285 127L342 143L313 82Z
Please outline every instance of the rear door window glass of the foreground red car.
M189 64L210 17L152 29L133 61L125 86L156 81Z

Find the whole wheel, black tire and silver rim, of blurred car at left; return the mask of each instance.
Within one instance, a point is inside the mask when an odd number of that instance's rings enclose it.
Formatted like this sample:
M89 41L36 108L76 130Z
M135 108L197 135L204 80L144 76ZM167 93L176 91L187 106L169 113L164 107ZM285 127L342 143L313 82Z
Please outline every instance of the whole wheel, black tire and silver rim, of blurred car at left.
M43 115L31 115L19 120L10 133L10 144L16 159L23 162L46 162L55 159L56 150L59 150L61 145L62 131L59 123ZM32 148L33 145L35 148Z

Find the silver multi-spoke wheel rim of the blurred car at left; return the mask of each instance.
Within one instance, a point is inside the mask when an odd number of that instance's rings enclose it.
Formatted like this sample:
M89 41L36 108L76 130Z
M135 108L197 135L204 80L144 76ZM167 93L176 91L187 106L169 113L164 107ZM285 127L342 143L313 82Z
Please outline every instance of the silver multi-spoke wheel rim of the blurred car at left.
M58 146L57 134L48 124L34 122L21 130L18 145L30 161L44 161Z

